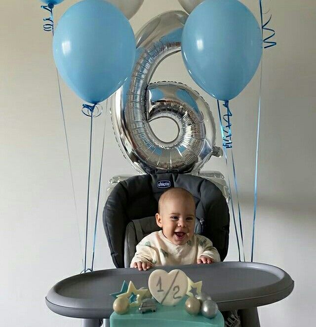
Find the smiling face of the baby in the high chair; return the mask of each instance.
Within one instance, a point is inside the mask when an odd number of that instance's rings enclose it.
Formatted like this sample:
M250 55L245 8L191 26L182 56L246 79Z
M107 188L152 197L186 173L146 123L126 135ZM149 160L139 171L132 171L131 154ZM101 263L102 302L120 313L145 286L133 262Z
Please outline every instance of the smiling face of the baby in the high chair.
M173 196L166 198L156 214L157 225L173 244L183 245L194 233L196 206L192 198Z

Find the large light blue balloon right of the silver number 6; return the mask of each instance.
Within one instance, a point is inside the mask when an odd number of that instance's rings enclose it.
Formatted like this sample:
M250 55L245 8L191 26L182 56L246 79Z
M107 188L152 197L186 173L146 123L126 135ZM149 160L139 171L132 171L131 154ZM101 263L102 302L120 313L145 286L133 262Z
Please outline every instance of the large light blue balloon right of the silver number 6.
M251 11L237 0L205 0L190 14L182 57L195 82L219 100L235 98L255 74L262 34Z

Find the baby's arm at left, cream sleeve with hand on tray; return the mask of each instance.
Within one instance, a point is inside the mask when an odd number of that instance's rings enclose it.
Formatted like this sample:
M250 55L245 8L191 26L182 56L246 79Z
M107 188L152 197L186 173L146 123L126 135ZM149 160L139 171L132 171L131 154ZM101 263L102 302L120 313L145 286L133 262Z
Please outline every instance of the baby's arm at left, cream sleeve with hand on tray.
M146 242L145 242L146 244ZM144 240L136 245L136 253L130 263L131 268L138 270L147 270L154 266L153 262L157 261L157 252L150 245L145 245Z

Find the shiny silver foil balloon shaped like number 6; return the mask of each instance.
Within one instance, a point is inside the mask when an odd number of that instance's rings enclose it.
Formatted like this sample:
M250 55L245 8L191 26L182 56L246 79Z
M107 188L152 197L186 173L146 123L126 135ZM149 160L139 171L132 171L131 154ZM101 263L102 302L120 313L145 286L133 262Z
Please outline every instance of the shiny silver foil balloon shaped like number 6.
M190 87L150 80L166 57L181 50L188 15L162 13L136 35L137 58L132 75L112 97L111 117L116 139L126 159L140 173L198 174L210 157L221 156L215 146L215 123L208 104ZM161 141L150 122L167 117L178 125L171 142Z

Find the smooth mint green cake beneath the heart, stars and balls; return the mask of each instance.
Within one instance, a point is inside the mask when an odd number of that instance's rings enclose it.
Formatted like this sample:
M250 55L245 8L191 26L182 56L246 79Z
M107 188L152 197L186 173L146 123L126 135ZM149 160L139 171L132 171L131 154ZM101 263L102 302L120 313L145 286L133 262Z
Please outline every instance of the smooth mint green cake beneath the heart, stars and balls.
M124 315L113 312L110 317L111 327L224 327L224 318L218 314L208 319L198 314L191 316L185 310L185 296L176 306L157 303L157 312L140 313L138 307L130 307Z

